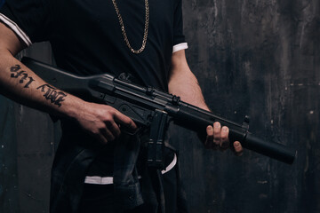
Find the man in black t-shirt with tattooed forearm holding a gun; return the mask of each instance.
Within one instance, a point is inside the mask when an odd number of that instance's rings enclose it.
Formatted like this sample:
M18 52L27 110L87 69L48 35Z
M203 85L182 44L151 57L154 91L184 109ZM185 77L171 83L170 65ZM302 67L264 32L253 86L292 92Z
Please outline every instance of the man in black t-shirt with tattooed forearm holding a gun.
M58 66L70 72L108 72L209 110L185 57L181 1L7 0L0 20L2 93L61 119L51 211L186 211L171 149L165 152L166 170L148 169L148 130L133 137L121 133L137 125L111 106L53 88L13 57L31 43L49 41ZM206 147L228 148L228 127L216 122L206 133ZM243 152L239 142L234 148Z

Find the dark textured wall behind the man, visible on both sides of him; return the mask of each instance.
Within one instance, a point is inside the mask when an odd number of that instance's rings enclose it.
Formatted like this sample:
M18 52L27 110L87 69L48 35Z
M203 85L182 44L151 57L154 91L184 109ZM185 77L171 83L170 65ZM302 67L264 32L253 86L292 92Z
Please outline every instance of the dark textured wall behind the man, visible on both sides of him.
M191 212L320 212L320 2L183 0L188 61L207 104L298 150L290 166L205 150L172 128ZM52 61L47 44L24 54ZM47 212L59 138L46 114L0 97L0 212Z

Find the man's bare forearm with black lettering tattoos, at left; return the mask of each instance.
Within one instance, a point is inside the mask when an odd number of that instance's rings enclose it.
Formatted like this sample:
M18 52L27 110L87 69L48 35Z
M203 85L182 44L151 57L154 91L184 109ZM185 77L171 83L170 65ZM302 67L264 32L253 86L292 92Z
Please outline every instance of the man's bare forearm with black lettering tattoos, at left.
M84 102L45 83L12 53L0 49L0 93L50 114L73 117Z

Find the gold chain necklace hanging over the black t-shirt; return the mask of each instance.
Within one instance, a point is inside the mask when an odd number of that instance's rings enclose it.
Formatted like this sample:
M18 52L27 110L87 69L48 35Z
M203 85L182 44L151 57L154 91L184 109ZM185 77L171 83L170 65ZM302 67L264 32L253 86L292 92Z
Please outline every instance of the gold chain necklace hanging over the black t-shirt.
M140 49L138 51L134 50L131 46L131 44L129 43L128 37L126 36L125 33L125 28L124 28L124 21L121 17L119 8L117 7L116 4L116 0L112 0L112 3L115 6L116 9L116 14L120 23L120 27L121 27L121 31L122 34L124 36L124 42L126 43L126 45L129 47L130 51L132 51L133 53L139 54L141 51L143 51L146 47L146 43L147 43L147 37L148 37L148 17L149 17L149 9L148 9L148 0L145 0L145 6L146 6L146 22L145 22L145 28L144 28L144 33L143 33L143 40L142 40L142 46L140 47Z

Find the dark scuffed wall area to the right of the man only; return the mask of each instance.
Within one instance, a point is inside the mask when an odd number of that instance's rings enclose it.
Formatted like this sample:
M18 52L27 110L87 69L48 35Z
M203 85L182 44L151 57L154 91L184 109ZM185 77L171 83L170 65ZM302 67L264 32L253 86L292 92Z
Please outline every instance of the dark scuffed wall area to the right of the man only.
M298 150L288 166L180 135L192 212L320 212L320 2L184 0L184 14L188 61L212 111L249 114L252 132Z

